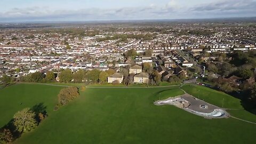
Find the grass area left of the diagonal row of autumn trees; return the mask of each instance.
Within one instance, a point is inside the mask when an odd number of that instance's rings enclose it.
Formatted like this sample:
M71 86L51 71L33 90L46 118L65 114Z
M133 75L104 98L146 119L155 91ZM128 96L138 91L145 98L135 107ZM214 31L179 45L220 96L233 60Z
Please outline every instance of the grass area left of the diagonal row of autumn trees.
M46 106L47 114L51 115L57 103L57 95L63 87L15 84L0 90L0 127L7 124L13 115L23 108L33 107L39 103Z

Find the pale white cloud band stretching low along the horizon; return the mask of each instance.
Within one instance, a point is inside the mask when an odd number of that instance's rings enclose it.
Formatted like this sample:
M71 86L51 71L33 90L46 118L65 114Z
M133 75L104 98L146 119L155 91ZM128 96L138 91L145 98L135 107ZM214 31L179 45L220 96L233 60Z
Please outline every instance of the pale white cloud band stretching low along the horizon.
M116 9L59 9L49 7L13 8L0 12L0 21L65 21L65 20L135 20L135 19L191 19L216 17L256 16L254 0L233 0L206 3L194 7L180 5L171 0L166 4L119 7Z

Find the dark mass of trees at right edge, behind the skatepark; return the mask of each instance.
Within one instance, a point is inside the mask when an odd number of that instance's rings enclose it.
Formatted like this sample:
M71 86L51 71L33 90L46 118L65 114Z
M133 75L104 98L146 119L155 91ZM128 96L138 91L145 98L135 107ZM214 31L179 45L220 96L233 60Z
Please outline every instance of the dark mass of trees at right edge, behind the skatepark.
M228 54L231 59L223 59L221 62L205 62L209 76L206 80L212 82L226 93L242 92L242 100L252 104L256 108L256 50L250 50L247 53L243 51L234 51ZM212 74L219 74L223 77L214 78ZM234 77L231 79L229 77Z

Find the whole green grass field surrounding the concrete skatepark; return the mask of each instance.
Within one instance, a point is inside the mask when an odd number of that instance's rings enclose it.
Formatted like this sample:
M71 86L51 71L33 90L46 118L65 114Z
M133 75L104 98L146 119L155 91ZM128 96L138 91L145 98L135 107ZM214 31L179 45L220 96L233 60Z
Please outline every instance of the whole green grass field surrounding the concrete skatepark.
M0 126L18 110L43 102L48 118L14 143L254 143L256 125L228 119L205 119L154 100L183 94L177 86L158 88L87 88L76 100L53 111L62 87L17 84L0 90ZM239 100L203 86L185 85L188 93L256 119ZM198 91L199 90L199 91ZM197 95L198 94L198 95ZM22 105L20 103L22 102ZM237 112L236 112L237 111Z

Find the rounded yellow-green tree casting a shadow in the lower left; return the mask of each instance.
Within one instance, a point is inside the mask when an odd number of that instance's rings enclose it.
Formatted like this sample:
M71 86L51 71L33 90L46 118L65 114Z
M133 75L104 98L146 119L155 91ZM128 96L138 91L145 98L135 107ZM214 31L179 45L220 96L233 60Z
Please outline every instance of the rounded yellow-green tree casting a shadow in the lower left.
M30 110L29 108L25 108L14 114L13 125L19 132L31 131L37 126L35 116L36 114L32 110Z

